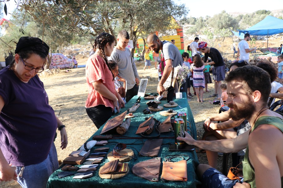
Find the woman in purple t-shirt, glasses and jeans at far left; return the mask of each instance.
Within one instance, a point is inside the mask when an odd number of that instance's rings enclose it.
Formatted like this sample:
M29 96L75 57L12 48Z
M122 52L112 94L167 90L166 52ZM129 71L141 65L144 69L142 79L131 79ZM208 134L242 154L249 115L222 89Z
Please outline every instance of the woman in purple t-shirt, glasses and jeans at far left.
M56 129L61 148L68 144L63 123L48 104L37 76L49 47L41 39L21 37L11 65L0 71L0 181L17 180L22 187L46 187L59 167Z

